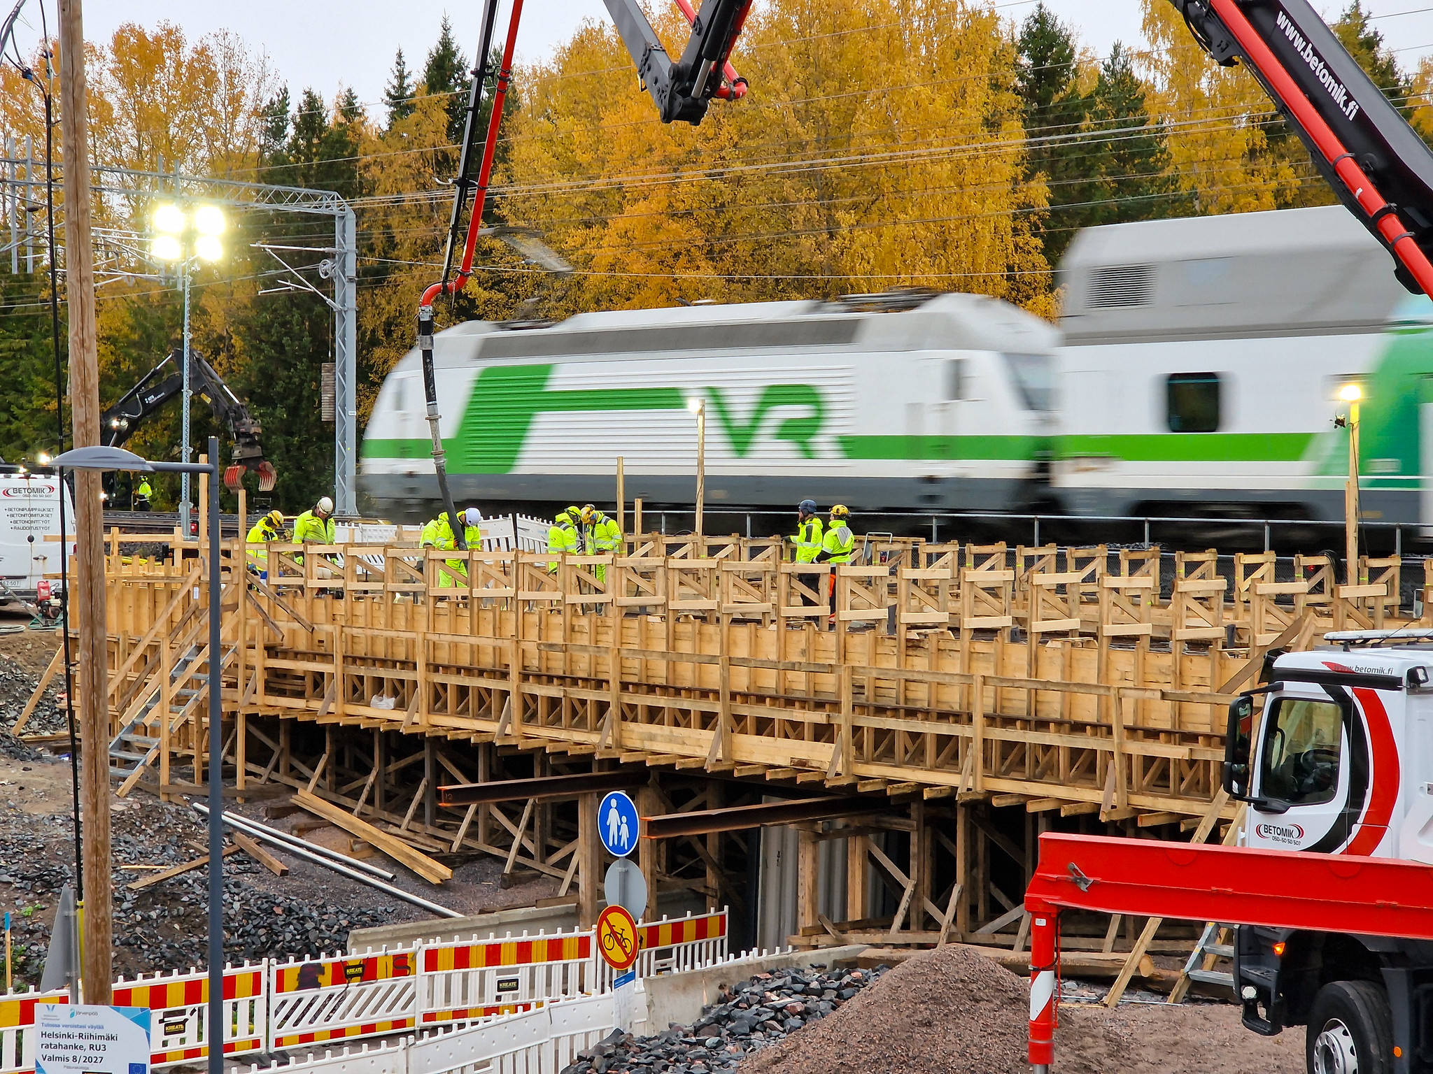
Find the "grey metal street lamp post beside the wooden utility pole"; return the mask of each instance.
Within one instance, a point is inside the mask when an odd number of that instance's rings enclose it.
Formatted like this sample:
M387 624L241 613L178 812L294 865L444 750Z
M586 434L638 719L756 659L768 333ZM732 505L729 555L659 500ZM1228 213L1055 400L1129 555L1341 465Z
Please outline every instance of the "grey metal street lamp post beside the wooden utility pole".
M133 451L112 447L73 448L57 455L53 464L60 470L128 470L155 474L209 474L209 1074L224 1074L224 735L221 690L224 670L221 656L221 587L219 556L219 440L209 437L208 463L153 463ZM235 561L232 571L241 571ZM238 574L235 574L238 579ZM103 581L100 583L103 584ZM242 584L236 581L235 584ZM198 772L195 773L198 776ZM109 862L86 862L89 876L107 882Z

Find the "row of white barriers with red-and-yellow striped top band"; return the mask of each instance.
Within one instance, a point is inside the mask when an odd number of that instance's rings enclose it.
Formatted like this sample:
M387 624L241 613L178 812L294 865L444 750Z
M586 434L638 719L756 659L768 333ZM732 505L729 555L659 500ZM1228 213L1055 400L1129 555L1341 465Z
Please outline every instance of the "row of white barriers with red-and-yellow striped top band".
M725 911L663 918L639 931L641 977L725 959ZM598 957L592 932L524 932L503 939L246 962L224 971L224 1053L258 1054L537 1011L590 992L606 995L612 977ZM208 974L189 969L120 978L113 1002L153 1011L150 1065L163 1068L209 1054L208 1000ZM34 1004L67 1001L63 991L0 997L0 1074L34 1070Z

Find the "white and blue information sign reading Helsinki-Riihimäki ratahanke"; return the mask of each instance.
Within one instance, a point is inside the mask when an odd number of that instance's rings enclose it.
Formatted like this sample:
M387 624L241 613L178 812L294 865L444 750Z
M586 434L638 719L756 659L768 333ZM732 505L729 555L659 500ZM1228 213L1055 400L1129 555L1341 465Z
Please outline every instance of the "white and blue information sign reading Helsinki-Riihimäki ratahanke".
M148 1007L36 1004L34 1074L149 1074Z

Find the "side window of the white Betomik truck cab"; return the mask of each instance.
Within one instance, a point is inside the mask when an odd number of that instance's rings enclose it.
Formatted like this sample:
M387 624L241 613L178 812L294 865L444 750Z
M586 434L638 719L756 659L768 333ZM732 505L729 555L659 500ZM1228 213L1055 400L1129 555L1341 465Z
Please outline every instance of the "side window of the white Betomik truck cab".
M1343 706L1280 697L1265 720L1258 792L1290 805L1331 802L1338 789Z

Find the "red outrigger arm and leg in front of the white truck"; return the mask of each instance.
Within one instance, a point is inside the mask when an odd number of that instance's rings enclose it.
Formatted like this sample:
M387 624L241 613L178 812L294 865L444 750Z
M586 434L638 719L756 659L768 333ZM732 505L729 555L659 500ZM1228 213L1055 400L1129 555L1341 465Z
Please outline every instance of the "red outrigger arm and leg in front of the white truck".
M1433 866L1393 858L1040 836L1030 914L1030 1064L1055 1057L1063 909L1433 939Z

